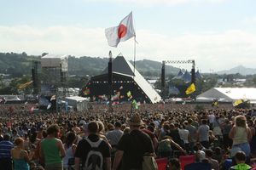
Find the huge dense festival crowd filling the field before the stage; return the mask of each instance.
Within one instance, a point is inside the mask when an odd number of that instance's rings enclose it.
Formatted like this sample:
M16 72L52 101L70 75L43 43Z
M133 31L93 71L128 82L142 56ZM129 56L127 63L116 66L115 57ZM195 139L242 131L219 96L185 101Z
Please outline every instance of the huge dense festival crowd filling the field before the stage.
M89 111L31 113L0 105L0 169L253 169L256 112L231 105L93 105ZM195 156L183 167L182 156ZM256 166L255 166L256 167Z

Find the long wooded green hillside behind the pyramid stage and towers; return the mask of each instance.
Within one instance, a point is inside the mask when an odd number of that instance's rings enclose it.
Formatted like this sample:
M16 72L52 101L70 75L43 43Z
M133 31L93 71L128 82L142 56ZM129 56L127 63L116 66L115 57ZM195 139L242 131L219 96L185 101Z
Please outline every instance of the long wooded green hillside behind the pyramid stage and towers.
M26 53L0 53L0 73L16 75L31 74L32 60L40 60L40 56L27 55ZM133 61L130 61L133 65ZM95 76L101 74L108 66L108 58L100 57L74 57L68 58L69 75ZM161 72L161 63L149 59L137 60L136 68L144 77L159 77ZM166 75L176 75L179 71L170 65L166 65Z

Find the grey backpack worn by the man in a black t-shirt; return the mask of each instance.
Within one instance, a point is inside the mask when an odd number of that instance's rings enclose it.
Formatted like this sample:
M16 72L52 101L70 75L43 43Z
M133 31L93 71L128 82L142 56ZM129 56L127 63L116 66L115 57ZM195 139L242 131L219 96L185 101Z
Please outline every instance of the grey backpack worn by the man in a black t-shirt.
M103 169L103 156L98 147L102 143L102 139L96 142L91 142L90 139L85 139L90 144L90 151L86 157L84 170L102 170Z

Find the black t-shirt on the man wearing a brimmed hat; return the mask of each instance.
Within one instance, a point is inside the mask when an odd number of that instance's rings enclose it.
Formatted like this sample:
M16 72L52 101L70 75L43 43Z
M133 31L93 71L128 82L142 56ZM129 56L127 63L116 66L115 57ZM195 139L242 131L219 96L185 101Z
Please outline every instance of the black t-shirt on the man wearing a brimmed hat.
M142 168L144 153L154 153L152 140L140 130L132 130L119 140L118 150L123 150L122 170Z

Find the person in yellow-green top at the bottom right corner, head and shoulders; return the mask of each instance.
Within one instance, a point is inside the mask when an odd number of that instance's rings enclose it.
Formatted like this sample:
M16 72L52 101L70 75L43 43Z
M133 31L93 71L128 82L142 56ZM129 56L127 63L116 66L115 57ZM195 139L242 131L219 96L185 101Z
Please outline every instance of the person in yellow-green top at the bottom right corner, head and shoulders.
M252 168L245 163L247 160L247 156L243 151L236 152L235 159L236 165L230 167L230 170L249 170Z

